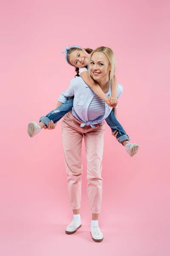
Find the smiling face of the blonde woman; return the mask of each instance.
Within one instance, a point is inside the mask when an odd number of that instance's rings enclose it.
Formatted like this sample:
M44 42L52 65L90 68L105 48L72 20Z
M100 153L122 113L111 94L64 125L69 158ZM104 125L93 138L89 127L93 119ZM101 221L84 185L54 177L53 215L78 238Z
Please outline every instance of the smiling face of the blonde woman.
M94 80L109 79L111 64L108 57L103 52L95 52L90 62L91 76Z

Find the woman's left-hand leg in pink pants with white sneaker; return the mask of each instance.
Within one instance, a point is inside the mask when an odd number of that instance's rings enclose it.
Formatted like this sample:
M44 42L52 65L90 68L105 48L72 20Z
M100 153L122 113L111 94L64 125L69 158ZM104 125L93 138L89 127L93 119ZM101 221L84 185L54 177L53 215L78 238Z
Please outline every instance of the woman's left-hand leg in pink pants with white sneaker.
M79 208L81 204L83 135L76 130L77 124L66 115L62 121L62 143L67 172L68 195L74 214L73 221L66 227L66 234L73 234L81 227Z

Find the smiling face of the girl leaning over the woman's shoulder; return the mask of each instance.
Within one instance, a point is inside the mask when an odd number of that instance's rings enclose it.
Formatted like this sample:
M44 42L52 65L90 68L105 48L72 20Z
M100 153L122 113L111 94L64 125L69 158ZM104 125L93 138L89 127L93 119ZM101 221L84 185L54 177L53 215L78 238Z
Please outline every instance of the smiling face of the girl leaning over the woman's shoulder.
M88 53L84 49L75 50L71 52L69 61L75 67L86 67L88 65Z

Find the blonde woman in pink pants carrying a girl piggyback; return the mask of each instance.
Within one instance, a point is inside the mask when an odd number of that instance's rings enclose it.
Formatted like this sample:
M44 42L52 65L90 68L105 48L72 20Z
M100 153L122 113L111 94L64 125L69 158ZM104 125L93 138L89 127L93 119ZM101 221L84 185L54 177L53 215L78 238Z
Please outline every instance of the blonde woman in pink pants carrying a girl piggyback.
M108 47L99 47L91 53L89 59L90 75L109 97L111 95L111 81L113 81L111 70L114 70L115 65L113 51ZM103 234L99 229L98 218L102 202L101 172L104 120L111 113L112 108L102 99L96 102L94 91L85 84L81 77L71 80L68 89L59 96L57 106L65 103L71 96L74 96L74 104L72 111L67 113L62 121L62 142L68 175L68 194L74 218L71 224L66 227L65 232L73 234L82 225L79 209L81 204L82 139L84 137L87 158L87 191L92 212L91 235L94 241L101 242ZM93 111L91 112L92 108Z

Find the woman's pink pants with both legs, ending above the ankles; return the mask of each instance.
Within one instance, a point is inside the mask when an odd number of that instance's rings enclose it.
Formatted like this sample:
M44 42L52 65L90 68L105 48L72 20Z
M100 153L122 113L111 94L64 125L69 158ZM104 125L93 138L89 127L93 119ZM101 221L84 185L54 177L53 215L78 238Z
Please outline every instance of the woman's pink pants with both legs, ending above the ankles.
M80 127L82 122L72 112L67 113L62 121L62 143L65 166L68 175L68 195L71 209L79 209L81 204L82 176L82 138L85 139L87 158L87 191L90 210L99 213L102 203L102 155L105 122Z

